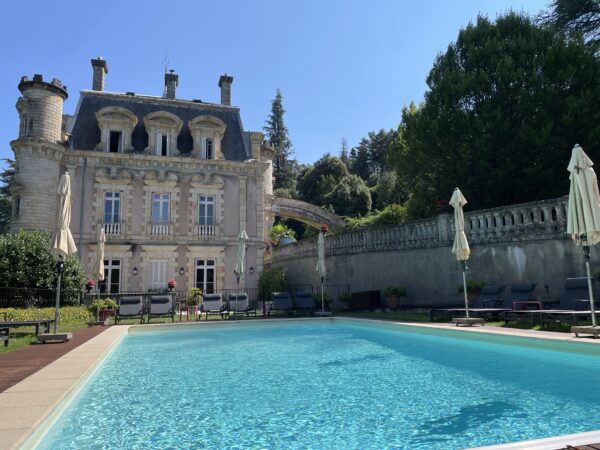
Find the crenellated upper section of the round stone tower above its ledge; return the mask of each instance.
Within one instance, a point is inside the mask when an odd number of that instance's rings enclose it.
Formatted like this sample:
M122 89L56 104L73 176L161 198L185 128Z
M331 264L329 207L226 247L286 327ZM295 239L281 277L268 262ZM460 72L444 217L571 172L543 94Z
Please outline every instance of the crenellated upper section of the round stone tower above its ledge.
M48 83L41 75L34 75L33 80L22 77L19 90L23 94L16 105L21 118L19 138L62 142L63 103L68 97L67 87L56 78Z

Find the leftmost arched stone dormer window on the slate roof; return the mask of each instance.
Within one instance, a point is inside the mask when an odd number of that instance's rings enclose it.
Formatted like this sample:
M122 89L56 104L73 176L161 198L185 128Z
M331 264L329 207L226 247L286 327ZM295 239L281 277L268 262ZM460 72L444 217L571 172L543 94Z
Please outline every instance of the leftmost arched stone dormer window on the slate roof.
M97 150L109 153L133 151L131 134L137 125L137 117L128 109L108 106L96 113L100 128L100 143Z

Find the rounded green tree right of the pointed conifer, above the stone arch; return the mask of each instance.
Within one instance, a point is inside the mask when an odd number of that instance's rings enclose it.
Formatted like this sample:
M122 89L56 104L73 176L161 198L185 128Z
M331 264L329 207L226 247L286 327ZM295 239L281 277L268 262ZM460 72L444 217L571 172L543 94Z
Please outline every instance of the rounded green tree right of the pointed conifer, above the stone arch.
M312 166L306 166L298 179L298 194L304 201L326 206L325 196L348 175L348 169L337 157L326 153Z

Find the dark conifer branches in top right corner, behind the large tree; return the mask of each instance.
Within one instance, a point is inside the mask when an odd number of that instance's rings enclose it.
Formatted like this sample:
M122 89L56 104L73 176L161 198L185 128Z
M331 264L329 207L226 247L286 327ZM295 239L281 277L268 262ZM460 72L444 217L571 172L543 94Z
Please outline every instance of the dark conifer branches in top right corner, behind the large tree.
M581 33L588 45L600 51L600 2L598 0L551 0L542 23L566 33Z

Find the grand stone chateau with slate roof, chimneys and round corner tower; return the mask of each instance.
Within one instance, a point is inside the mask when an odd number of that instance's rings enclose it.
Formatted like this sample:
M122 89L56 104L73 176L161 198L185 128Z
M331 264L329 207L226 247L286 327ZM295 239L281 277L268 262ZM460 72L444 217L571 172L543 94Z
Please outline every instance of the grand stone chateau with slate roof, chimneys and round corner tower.
M233 78L219 79L221 103L177 98L165 74L163 97L105 91L108 65L92 59L92 89L63 114L67 87L22 77L12 231L55 222L60 176L71 176L71 231L88 276L97 234L106 232L101 292L236 287L237 236L249 236L240 287L257 285L269 229L273 149L244 131L231 105Z

